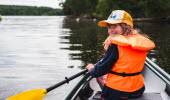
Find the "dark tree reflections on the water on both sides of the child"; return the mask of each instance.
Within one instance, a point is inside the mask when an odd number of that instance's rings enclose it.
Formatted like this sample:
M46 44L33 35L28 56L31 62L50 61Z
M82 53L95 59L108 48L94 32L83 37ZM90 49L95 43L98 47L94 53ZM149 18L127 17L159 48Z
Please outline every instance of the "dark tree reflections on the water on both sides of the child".
M71 53L70 59L79 59L83 61L85 66L88 63L96 63L102 58L103 41L107 37L106 28L97 26L97 22L73 20L65 20L65 28L71 29L70 36L61 37L68 39L72 51L79 53ZM166 72L170 73L170 24L168 23L135 23L135 28L147 33L151 40L156 44L156 48L149 51L148 57L162 67ZM65 42L63 42L65 43Z

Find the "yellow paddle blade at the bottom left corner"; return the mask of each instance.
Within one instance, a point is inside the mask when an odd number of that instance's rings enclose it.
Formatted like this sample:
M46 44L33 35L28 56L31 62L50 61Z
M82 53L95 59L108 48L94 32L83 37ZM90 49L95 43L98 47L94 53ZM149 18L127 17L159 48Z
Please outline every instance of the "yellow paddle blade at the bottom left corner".
M43 100L46 94L46 89L36 89L16 94L6 100Z

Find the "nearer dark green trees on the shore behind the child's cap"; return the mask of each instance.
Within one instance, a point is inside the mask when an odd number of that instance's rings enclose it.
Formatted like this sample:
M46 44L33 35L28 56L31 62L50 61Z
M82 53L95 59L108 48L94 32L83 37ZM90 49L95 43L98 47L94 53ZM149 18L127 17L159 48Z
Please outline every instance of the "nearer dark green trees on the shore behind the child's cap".
M134 18L170 16L170 0L66 0L67 15L107 18L113 10L125 10Z

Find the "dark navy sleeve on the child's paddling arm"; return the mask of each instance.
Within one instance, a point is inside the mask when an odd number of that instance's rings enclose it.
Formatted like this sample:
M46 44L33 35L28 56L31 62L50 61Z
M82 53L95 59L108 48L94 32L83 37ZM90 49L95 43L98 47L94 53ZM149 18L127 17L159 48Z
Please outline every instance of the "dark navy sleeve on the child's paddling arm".
M92 77L100 77L107 74L118 60L117 45L111 44L101 61L99 61L94 68L90 70Z

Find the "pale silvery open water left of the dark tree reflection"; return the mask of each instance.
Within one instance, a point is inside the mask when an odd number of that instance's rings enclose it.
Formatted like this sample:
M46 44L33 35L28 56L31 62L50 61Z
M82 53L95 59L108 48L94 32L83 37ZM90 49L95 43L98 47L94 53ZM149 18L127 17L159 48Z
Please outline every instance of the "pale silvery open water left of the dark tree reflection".
M14 94L46 89L81 69L80 60L70 60L63 50L70 29L65 17L4 16L0 22L0 100ZM71 67L70 67L71 66ZM73 83L49 92L45 100L62 100Z

